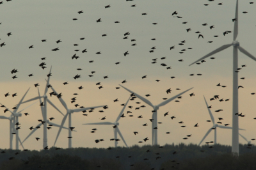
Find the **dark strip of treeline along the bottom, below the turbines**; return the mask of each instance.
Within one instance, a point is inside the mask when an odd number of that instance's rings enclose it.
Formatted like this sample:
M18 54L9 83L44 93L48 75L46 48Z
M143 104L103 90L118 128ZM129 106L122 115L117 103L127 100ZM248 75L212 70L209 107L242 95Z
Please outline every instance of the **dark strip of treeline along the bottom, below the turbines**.
M239 157L231 154L231 146L221 144L1 150L0 169L256 169L256 146L239 148Z

